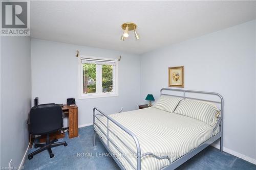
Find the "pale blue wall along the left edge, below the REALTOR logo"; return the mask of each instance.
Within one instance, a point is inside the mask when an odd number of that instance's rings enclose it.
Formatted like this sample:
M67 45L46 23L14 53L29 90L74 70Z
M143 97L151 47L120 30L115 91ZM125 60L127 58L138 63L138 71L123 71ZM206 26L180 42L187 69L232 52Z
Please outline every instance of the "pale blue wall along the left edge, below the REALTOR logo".
M1 37L1 166L18 167L28 148L31 107L31 40Z

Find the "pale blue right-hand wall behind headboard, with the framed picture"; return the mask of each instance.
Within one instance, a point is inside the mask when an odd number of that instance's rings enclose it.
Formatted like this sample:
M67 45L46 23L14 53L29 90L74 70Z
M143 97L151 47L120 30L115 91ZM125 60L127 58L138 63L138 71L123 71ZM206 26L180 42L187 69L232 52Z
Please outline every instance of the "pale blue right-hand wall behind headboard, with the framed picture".
M141 102L147 93L159 98L168 87L168 67L184 65L185 89L223 95L224 147L255 161L255 25L246 22L142 55Z

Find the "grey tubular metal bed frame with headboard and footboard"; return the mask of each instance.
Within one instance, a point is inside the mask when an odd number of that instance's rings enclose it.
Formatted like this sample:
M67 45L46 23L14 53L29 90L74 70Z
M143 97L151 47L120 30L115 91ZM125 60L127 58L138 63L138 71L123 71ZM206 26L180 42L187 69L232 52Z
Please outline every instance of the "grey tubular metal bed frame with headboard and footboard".
M172 95L172 94L167 94L167 93L163 93L164 90L168 90L168 91L178 91L178 92L182 92L182 95ZM209 95L216 95L220 98L220 101L211 101L211 100L204 100L204 99L199 99L199 98L189 98L186 96L186 93L201 93L201 94L209 94ZM174 162L170 161L170 158L167 156L156 156L153 153L145 153L145 154L141 154L141 150L140 150L140 144L139 144L139 140L136 137L136 135L130 131L129 129L125 128L124 126L122 126L120 123L118 123L115 119L113 119L112 117L110 117L108 114L105 114L104 112L102 112L101 110L97 109L97 108L93 108L93 147L95 147L95 137L96 135L98 136L98 138L100 139L100 141L102 142L102 144L104 145L104 147L106 148L106 150L108 150L108 152L112 153L112 151L110 150L110 143L112 143L112 145L118 150L118 152L120 152L123 157L127 160L127 162L129 162L131 164L131 166L134 169L137 170L141 170L141 158L147 156L147 155L151 155L153 157L155 157L156 159L168 159L168 161L170 162L170 165L162 168L164 170L173 170L177 167L179 167L181 164L183 164L184 162L186 162L187 160L189 160L191 157L195 156L196 154L198 154L199 152L201 152L202 150L204 150L206 147L208 147L211 143L215 142L216 140L220 139L220 151L222 152L222 148L223 148L223 98L219 93L215 93L215 92L206 92L206 91L193 91L193 90L181 90L181 89L171 89L171 88L162 88L160 90L160 96L164 94L164 95L170 95L170 96L176 96L176 97L181 97L183 99L194 99L194 100L199 100L199 101L205 101L205 102L211 102L211 103L218 103L220 104L220 111L221 111L221 117L218 118L217 124L215 125L214 130L211 133L211 138L208 139L207 141L203 142L202 144L199 145L199 147L195 148L194 150L191 150L190 152L188 152L187 154L183 155L182 157L180 157L179 159L175 160ZM95 112L98 112L97 114ZM105 116L106 117L106 125L103 124L103 122L97 117L97 116ZM99 120L99 122L101 122L101 124L103 126L105 126L106 128L106 134L105 132L97 125L95 124L95 120ZM124 132L126 132L127 134L129 134L135 144L136 144L136 148L137 148L137 152L135 153L125 142L123 142L110 128L109 128L109 122L114 123L115 125L117 125L119 128L121 128ZM103 139L97 134L95 127L97 126L97 128L101 131L101 133L106 137L106 144L103 141ZM214 135L215 130L220 127L220 132L218 132L216 135ZM112 141L112 139L110 139L109 137L109 133L112 133L118 140L120 140L124 146L129 149L131 151L131 153L133 153L134 155L136 155L137 157L137 167L135 167L131 161L126 158L126 156L124 155L124 153L117 147L117 145ZM118 158L115 155L112 155L113 159L115 160L115 162L118 164L118 166L121 169L125 169L124 166L122 165L122 163L118 160Z

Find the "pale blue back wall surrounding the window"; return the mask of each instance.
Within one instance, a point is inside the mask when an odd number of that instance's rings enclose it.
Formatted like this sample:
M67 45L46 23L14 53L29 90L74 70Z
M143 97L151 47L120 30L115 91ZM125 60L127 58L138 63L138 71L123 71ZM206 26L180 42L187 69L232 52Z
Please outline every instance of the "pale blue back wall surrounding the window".
M118 58L119 96L78 100L78 58L81 55ZM93 107L106 113L116 113L138 107L140 96L140 59L137 55L86 46L32 39L32 99L42 103L66 103L75 98L78 106L78 126L92 123Z

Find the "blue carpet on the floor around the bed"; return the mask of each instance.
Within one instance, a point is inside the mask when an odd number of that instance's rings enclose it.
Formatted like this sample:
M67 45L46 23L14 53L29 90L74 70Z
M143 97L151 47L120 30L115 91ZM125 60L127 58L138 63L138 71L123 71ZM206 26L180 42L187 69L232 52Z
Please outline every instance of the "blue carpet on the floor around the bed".
M96 138L96 147L93 147L93 126L79 128L79 136L76 138L69 139L66 134L66 137L59 141L67 141L68 146L52 148L55 155L53 158L49 157L48 151L35 155L31 160L27 158L25 169L119 169L113 158L99 156L99 153L108 153L99 139ZM29 153L35 150L30 149ZM80 156L77 156L77 153ZM256 170L256 165L208 147L177 169Z

